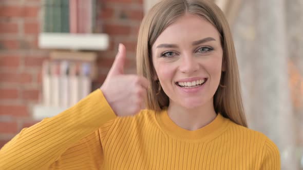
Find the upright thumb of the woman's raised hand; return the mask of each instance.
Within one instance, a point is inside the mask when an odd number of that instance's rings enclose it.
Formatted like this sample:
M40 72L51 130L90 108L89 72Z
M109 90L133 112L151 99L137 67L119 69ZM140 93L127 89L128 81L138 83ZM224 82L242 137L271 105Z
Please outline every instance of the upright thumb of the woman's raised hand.
M115 61L113 61L112 66L109 71L109 75L118 75L124 73L124 63L126 59L126 49L123 44L119 44L119 50L116 55Z

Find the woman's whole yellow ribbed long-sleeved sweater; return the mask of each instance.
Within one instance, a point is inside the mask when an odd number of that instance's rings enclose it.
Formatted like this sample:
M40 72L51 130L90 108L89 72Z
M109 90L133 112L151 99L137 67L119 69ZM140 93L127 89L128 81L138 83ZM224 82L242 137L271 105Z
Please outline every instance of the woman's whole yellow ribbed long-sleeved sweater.
M117 117L100 90L24 129L0 150L0 169L280 169L277 146L220 114L196 131L166 110Z

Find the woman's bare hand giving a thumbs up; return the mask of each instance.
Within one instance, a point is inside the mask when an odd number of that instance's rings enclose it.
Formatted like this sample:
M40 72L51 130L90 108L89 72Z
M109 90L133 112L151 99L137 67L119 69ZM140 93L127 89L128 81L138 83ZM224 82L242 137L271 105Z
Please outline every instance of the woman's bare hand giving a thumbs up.
M117 116L130 116L145 108L148 80L135 74L124 74L126 49L119 44L119 52L107 74L101 91Z

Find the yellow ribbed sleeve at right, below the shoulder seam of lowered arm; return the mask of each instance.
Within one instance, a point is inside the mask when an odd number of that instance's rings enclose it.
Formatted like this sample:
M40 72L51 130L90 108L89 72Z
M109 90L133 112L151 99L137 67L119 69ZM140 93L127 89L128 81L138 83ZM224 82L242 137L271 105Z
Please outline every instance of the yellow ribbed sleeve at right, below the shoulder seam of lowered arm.
M281 169L280 153L278 147L270 139L266 139L262 152L262 164L260 169Z

